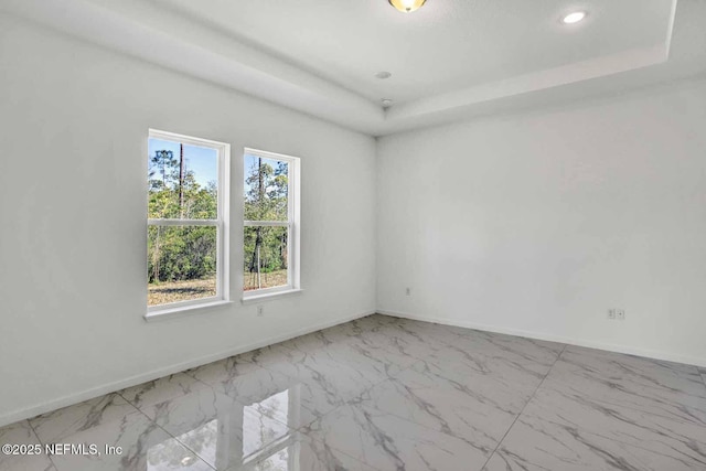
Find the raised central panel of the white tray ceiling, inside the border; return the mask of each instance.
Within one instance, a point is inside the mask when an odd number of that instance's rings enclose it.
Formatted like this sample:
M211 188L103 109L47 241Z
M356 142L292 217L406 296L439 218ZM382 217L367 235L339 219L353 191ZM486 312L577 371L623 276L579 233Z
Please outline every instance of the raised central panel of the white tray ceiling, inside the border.
M609 54L663 45L665 0L152 0L371 100L410 101ZM587 10L585 22L559 19ZM379 81L374 74L388 71Z

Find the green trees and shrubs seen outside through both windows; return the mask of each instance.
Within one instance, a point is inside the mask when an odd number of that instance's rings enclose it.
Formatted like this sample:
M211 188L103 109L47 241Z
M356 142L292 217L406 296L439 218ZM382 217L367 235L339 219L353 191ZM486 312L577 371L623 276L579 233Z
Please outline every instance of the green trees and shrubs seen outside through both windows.
M289 242L289 165L264 158L250 158L244 182L245 220L282 222L284 226L244 228L246 290L287 283ZM200 184L183 157L157 150L149 159L148 205L153 220L216 220L216 183ZM156 286L215 278L216 250L214 226L150 226L148 282Z

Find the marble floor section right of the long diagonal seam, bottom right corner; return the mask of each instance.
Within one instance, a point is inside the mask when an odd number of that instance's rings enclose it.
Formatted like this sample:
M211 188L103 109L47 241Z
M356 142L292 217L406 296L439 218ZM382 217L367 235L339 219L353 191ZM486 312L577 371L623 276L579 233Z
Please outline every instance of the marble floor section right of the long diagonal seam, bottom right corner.
M706 470L699 376L694 366L568 346L486 470Z

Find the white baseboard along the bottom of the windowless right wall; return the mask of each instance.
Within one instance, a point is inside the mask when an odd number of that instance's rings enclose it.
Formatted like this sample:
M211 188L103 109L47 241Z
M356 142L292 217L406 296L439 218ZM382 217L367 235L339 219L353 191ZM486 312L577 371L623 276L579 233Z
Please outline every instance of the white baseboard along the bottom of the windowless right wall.
M706 367L706 358L700 358L697 356L681 355L681 354L668 353L668 352L659 352L654 350L635 349L631 346L617 345L612 343L603 343L603 342L596 342L591 340L566 338L566 336L553 335L553 334L543 333L543 332L509 329L509 328L503 328L498 325L478 324L474 322L459 321L456 319L448 319L448 318L438 318L434 315L408 314L405 312L396 312L396 311L389 311L385 309L378 309L377 313L392 315L395 318L411 319L415 321L435 322L438 324L453 325L453 327L480 330L485 332L504 333L507 335L524 336L527 339L535 339L535 340L545 340L548 342L566 343L569 345L586 346L588 349L625 353L628 355L644 356L648 358L662 360L662 361L675 362L675 363L684 363L687 365Z

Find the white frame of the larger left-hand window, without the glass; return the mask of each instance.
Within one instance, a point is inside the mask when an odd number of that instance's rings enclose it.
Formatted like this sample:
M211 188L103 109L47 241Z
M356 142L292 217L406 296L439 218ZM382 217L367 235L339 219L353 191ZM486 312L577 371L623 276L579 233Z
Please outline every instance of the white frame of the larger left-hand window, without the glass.
M213 226L216 227L216 296L167 304L148 306L146 318L158 318L163 314L183 313L188 310L213 307L231 302L229 283L229 201L231 201L231 144L174 132L149 130L150 139L181 142L188 146L205 147L217 152L217 218L215 220L153 220L148 218L148 226ZM147 261L147 258L146 258Z

